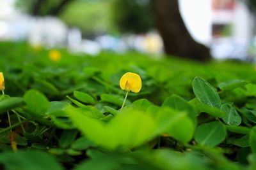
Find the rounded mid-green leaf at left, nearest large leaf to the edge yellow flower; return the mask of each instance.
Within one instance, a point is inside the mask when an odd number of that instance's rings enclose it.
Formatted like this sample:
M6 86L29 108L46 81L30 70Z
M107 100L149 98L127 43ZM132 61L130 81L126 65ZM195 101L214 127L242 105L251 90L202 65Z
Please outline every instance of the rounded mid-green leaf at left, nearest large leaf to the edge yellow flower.
M33 115L44 115L50 106L44 94L33 89L24 94L24 101L28 106L29 112Z

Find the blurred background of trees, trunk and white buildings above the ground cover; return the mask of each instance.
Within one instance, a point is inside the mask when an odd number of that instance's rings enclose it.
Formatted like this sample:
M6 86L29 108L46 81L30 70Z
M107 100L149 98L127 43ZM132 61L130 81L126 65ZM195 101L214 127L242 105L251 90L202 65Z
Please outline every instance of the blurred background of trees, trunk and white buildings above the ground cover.
M0 41L256 60L255 0L0 0Z

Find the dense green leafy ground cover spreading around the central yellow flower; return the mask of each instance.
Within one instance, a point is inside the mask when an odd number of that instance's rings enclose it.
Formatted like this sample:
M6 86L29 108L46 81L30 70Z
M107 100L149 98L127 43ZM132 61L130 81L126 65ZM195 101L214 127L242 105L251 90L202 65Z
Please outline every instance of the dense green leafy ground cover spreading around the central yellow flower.
M256 167L253 64L65 50L51 60L48 50L15 43L0 52L6 169ZM129 71L142 89L119 111L119 80Z

